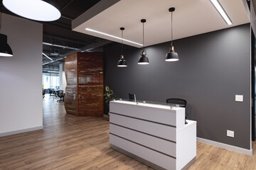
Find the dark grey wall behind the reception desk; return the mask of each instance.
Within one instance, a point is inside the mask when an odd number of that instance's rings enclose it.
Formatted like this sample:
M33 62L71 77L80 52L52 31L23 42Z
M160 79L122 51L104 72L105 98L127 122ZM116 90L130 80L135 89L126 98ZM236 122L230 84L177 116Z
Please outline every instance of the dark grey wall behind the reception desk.
M107 45L105 85L119 98L184 98L198 137L250 149L250 25L175 40L178 62L164 61L169 44L146 47L148 65L137 64L142 49L125 45L126 68L117 67L121 45ZM235 94L244 102L235 102Z

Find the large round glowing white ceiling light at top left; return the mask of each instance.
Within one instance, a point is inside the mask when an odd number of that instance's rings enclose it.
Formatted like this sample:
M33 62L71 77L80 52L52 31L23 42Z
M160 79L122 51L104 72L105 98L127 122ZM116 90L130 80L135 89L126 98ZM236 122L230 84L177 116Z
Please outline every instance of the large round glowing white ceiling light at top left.
M3 0L4 6L18 16L36 21L55 21L61 13L51 1L42 0Z

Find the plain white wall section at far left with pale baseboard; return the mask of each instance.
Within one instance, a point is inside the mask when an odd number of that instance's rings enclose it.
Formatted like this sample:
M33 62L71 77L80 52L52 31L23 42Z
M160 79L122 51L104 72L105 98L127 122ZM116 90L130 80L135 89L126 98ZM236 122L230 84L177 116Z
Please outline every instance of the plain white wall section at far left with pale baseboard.
M43 128L43 25L2 14L14 57L0 57L0 136Z

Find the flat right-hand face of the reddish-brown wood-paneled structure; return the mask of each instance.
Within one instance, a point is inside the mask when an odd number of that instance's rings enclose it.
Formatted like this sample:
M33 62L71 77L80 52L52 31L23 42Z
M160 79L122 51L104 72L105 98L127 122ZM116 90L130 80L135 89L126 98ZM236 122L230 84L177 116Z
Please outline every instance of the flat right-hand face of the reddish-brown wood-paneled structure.
M78 53L78 115L103 115L102 52Z

